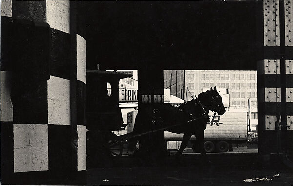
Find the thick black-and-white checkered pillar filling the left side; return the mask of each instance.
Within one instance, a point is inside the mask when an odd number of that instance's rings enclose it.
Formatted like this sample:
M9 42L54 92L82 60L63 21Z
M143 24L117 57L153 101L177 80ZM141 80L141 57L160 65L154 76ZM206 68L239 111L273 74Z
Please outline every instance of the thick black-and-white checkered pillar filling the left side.
M85 183L86 41L76 4L1 1L1 38L10 38L1 46L3 184Z

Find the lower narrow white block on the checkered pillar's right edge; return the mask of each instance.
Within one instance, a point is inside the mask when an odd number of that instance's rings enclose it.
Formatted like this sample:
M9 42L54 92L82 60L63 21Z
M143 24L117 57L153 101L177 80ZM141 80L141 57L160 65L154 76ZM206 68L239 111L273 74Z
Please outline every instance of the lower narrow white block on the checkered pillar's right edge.
M86 126L77 125L77 170L86 170Z

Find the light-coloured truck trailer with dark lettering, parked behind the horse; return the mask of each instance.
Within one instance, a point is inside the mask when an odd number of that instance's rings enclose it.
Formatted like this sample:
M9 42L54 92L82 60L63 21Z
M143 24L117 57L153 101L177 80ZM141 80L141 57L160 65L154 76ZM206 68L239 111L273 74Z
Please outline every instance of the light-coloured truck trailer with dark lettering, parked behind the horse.
M128 112L127 133L132 132L137 115L137 110ZM184 125L184 124L183 124ZM229 112L220 116L209 112L209 122L204 131L204 146L206 152L227 152L232 150L232 144L245 143L247 141L247 112ZM164 139L168 150L178 150L183 134L164 132ZM196 137L190 138L192 150L199 152Z

